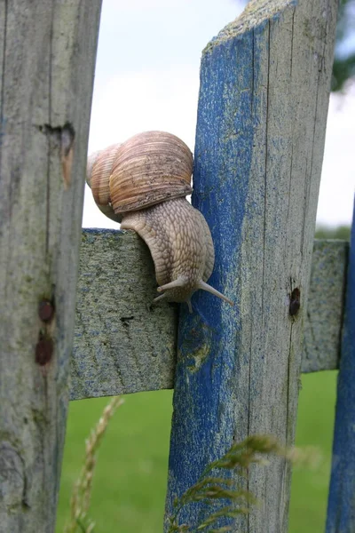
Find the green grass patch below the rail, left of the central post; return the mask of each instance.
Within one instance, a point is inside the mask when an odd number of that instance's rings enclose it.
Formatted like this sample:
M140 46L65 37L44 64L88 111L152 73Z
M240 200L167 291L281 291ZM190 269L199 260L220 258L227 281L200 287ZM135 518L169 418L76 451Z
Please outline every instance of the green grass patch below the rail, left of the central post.
M162 531L171 424L171 391L131 394L115 412L99 449L90 516L95 533ZM62 533L84 440L107 398L70 404L56 532Z

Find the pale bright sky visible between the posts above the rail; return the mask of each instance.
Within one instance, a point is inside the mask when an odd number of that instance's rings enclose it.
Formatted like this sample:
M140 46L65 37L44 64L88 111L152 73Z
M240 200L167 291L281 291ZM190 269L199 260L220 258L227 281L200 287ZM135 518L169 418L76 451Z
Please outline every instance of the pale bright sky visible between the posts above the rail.
M103 0L89 154L147 130L193 150L201 51L241 12L236 0ZM355 84L331 94L318 225L350 225L355 191ZM118 227L85 187L83 227Z

